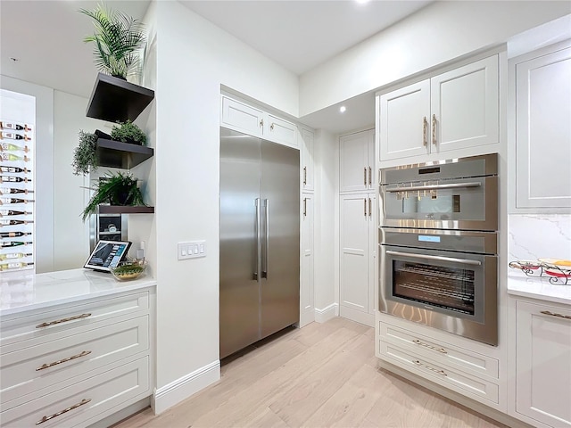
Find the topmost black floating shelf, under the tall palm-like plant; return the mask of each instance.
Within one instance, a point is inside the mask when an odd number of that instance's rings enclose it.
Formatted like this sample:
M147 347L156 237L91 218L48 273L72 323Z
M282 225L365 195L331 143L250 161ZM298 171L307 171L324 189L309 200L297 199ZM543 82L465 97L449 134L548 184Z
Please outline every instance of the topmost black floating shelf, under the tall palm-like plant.
M111 122L133 121L153 98L151 89L99 73L87 104L86 116Z

